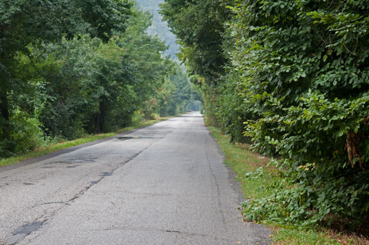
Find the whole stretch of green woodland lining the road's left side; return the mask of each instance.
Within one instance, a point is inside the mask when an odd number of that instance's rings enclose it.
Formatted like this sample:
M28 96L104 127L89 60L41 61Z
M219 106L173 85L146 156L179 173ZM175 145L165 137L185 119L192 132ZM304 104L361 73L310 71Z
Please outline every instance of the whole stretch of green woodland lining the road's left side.
M0 160L198 104L131 0L0 0Z

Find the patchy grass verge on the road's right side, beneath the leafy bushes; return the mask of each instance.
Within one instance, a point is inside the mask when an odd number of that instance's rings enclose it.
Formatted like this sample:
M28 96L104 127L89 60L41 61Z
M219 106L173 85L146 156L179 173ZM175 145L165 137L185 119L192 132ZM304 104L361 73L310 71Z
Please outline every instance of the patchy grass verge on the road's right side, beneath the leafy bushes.
M230 143L230 137L222 135L218 128L209 127L211 135L218 141L225 155L225 163L229 165L241 183L244 198L263 198L271 194L270 189L264 188L271 181L269 174L262 174L259 178L247 178L246 174L258 167L264 173L275 171L268 167L270 159L249 150L249 145ZM363 244L359 237L348 237L328 231L326 229L297 229L295 227L281 227L273 222L266 222L273 230L273 244Z

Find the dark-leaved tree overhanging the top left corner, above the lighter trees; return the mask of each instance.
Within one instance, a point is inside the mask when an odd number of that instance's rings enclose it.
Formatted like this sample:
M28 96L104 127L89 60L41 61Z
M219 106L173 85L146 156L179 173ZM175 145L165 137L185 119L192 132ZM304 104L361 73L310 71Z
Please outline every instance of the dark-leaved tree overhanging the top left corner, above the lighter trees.
M0 152L11 152L14 148L10 118L17 108L24 106L17 102L18 98L32 97L34 93L34 84L14 73L19 65L17 54L29 56L28 45L59 42L63 36L92 34L107 40L109 34L125 30L125 21L132 14L131 1L99 1L94 14L104 16L103 25L89 19L89 3L82 0L0 1Z

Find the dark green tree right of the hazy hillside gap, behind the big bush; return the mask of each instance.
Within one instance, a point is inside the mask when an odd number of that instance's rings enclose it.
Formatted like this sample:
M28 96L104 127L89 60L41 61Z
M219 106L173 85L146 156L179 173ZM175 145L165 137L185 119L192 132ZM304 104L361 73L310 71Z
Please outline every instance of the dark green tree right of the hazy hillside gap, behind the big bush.
M224 22L231 16L231 1L165 0L160 13L181 45L180 60L193 75L215 83L227 60L222 51Z

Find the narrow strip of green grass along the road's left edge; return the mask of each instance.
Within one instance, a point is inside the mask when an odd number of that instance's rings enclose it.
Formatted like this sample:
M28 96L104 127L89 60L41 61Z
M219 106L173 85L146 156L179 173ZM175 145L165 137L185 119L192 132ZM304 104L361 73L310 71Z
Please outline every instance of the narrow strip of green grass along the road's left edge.
M33 150L32 152L28 152L27 154L21 154L19 156L12 156L10 158L7 159L1 159L0 161L0 167L1 166L6 166L6 165L12 165L14 163L19 163L20 161L23 160L27 160L27 159L32 159L34 157L37 156L42 156L51 152L56 152L58 150L63 150L66 148L70 148L72 146L76 146L76 145L82 145L84 143L89 143L92 141L96 141L98 139L105 139L108 137L113 137L117 134L120 134L122 132L127 132L129 130L134 130L135 128L141 128L141 127L145 127L145 126L149 126L151 124L155 124L158 121L164 121L166 119L169 119L170 117L162 117L160 119L155 119L155 120L149 120L149 121L145 121L143 123L140 124L136 124L135 126L130 126L127 128L122 128L120 130L118 130L117 132L109 132L106 134L99 134L99 135L87 135L83 138L80 139L74 139L72 141L63 141L61 143L56 143L56 144L52 144L52 145L48 145L45 148L40 148L40 149L36 149Z

